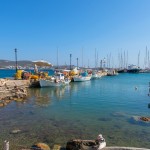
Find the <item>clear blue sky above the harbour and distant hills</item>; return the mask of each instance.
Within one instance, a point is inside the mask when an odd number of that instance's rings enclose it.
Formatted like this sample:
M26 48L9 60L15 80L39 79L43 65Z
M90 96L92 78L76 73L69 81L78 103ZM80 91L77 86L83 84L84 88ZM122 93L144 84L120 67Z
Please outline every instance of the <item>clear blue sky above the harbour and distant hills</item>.
M0 0L0 59L143 67L146 47L150 0Z

